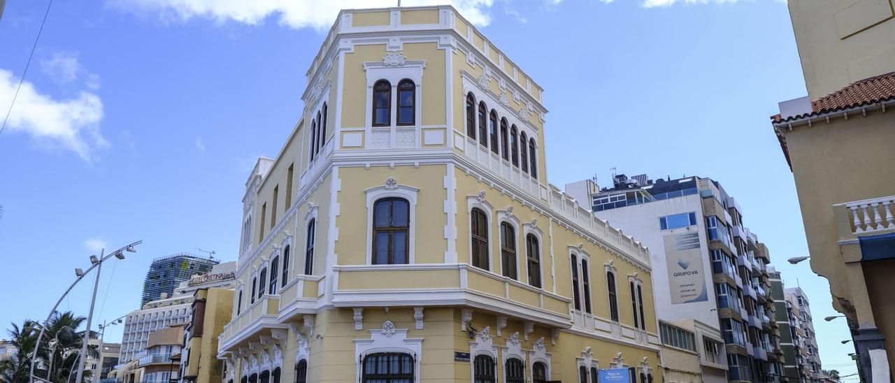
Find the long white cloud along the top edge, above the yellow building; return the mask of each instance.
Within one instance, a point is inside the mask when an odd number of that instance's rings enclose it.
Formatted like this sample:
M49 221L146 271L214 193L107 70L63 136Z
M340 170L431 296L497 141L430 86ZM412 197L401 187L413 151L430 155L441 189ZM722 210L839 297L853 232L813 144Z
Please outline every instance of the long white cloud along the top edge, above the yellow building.
M218 22L238 21L259 25L277 15L290 28L328 30L342 9L396 6L396 0L107 0L109 4L134 13L159 13L164 20L194 17ZM493 0L403 0L401 5L453 4L476 25L490 22L488 9Z

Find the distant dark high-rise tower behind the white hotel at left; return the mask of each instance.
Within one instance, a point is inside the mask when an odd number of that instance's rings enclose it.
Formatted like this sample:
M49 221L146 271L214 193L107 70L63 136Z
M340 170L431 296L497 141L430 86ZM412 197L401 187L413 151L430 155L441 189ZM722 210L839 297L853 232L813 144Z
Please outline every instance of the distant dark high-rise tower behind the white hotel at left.
M187 252L152 260L149 271L146 272L146 280L143 282L140 306L158 299L162 293L173 296L175 288L181 282L186 282L197 274L209 273L211 268L219 262L219 260L203 258Z

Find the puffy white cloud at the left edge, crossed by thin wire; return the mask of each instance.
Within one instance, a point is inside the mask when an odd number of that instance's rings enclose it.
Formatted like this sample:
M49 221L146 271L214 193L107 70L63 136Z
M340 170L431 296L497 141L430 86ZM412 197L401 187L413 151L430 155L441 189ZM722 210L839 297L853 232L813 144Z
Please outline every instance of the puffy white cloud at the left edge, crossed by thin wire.
M13 102L18 84L19 78L13 72L0 69L0 105ZM91 91L82 90L75 98L55 99L39 93L34 84L24 81L6 130L24 132L39 143L70 149L90 162L94 158L93 149L108 146L99 133L102 118L102 100Z

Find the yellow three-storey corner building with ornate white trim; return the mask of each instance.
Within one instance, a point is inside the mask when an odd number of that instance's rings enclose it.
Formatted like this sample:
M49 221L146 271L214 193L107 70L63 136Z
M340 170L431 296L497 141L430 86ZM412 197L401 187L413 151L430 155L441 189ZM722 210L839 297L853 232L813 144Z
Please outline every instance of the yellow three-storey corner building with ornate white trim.
M653 381L647 249L547 183L542 89L453 7L342 11L307 77L246 182L224 381Z

